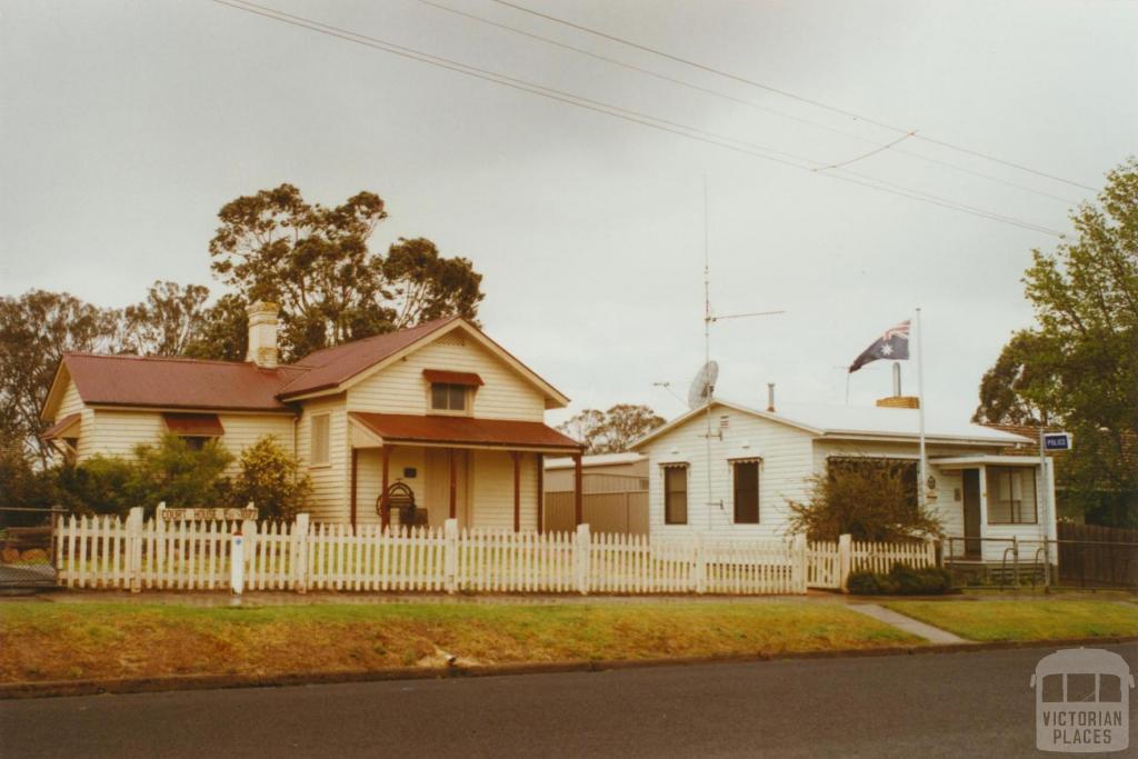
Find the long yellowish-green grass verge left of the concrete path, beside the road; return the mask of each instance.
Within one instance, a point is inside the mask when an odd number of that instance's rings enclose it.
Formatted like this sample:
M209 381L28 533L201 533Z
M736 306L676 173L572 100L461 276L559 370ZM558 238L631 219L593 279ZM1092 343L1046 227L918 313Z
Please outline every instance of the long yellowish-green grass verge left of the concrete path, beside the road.
M0 682L920 645L836 604L0 604Z

